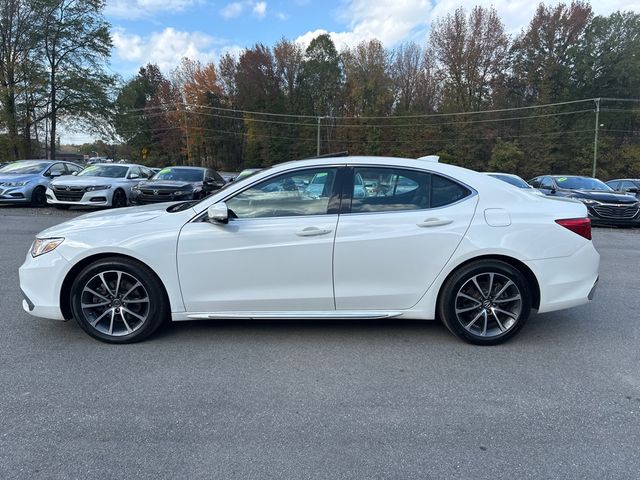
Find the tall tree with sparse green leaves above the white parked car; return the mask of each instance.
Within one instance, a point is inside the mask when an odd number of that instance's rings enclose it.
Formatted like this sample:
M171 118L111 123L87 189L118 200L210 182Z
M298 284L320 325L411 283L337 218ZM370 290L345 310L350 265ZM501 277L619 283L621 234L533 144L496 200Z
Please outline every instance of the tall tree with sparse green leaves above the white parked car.
M33 0L39 13L48 74L50 155L56 156L58 120L81 118L92 127L110 110L113 77L104 71L111 37L104 0Z

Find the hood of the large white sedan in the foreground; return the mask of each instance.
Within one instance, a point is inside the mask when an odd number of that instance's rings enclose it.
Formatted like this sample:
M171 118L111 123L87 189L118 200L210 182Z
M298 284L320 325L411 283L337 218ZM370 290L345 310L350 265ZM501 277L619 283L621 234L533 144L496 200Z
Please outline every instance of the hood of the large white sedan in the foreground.
M117 227L147 222L160 215L168 215L166 203L93 212L43 230L37 237L64 237L78 230Z

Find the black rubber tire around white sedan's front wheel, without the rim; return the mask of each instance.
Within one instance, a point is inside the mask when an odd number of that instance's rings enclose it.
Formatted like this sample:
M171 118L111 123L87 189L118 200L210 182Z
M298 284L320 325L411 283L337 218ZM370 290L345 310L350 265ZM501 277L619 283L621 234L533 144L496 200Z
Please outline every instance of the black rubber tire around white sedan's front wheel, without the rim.
M133 275L142 283L149 295L149 316L146 323L140 329L128 335L115 337L99 332L91 326L82 313L80 307L82 289L91 278L106 270L121 270ZM107 343L133 343L144 340L153 334L169 317L168 300L160 279L145 265L126 258L105 258L85 267L71 286L70 305L73 318L78 325L93 338Z

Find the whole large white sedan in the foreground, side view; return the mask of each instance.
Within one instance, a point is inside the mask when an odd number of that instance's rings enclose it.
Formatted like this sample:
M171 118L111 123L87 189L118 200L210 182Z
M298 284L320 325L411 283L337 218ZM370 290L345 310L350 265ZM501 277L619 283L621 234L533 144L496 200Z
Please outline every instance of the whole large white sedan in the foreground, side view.
M167 319L393 317L440 318L487 345L531 309L588 302L598 265L580 203L425 160L340 157L262 170L199 202L52 227L20 285L29 313L74 318L113 343Z

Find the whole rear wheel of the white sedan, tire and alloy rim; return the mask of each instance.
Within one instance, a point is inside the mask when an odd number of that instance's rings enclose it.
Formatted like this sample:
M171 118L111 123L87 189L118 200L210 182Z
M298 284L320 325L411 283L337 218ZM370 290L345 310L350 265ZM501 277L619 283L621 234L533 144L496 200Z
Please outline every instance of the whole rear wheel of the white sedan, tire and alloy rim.
M458 338L474 345L498 345L524 326L531 298L531 287L519 270L499 260L478 260L447 279L438 315Z

